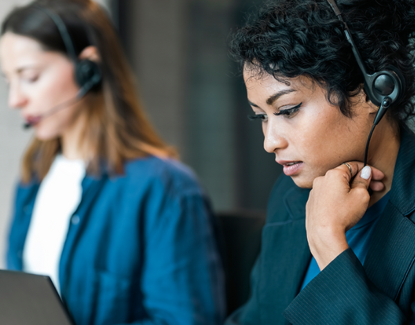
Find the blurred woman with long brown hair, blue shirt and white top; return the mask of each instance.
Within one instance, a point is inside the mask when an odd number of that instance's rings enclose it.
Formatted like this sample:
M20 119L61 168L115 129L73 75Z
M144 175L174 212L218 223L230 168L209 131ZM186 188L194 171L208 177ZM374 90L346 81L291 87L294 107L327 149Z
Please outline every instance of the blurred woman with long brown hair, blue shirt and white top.
M13 10L0 62L9 105L35 128L8 268L50 275L78 325L219 324L223 274L208 201L147 121L100 6Z

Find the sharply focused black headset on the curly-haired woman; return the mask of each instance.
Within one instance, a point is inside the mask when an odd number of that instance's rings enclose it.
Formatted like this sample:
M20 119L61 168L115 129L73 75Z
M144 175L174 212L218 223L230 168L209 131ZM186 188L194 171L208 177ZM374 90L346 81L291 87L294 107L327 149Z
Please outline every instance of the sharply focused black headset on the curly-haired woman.
M333 8L335 15L340 21L344 24L344 34L346 35L347 41L351 44L351 50L353 55L358 62L358 66L362 71L362 75L365 78L365 92L371 102L376 106L379 106L378 112L374 119L374 125L371 128L369 133L369 138L367 139L366 150L365 150L365 166L367 166L367 152L369 150L369 142L371 135L374 132L375 127L378 125L379 121L387 112L388 108L394 106L402 97L405 92L405 78L402 73L394 67L387 66L386 70L375 72L373 75L369 75L363 63L362 57L356 43L351 37L351 32L349 26L342 18L342 12L340 12L338 6L335 3L335 0L327 0Z

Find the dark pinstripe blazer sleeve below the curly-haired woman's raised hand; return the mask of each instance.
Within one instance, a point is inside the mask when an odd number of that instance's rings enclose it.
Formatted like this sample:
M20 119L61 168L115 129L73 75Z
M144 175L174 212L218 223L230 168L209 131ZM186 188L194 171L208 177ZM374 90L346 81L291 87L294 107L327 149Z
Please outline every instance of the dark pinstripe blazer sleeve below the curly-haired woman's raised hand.
M353 250L339 255L284 311L292 324L404 324L405 315L367 277Z

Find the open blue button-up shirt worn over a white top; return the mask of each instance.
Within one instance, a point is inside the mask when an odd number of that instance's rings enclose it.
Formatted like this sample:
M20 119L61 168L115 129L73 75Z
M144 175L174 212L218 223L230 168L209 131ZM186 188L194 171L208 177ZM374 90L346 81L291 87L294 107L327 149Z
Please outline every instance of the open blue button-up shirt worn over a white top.
M37 181L17 187L12 270L22 269L38 189ZM192 172L178 161L145 157L124 164L123 175L86 175L59 282L77 325L221 324L214 219Z

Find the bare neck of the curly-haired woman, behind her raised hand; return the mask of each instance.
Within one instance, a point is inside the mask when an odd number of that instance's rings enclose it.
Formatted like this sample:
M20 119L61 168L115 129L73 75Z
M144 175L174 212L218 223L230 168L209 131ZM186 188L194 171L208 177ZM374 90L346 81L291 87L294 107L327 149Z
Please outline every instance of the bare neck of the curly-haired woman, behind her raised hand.
M371 195L369 206L379 201L391 189L399 146L398 126L384 117L374 130L369 146L368 164L385 174L385 178L382 179L385 188Z

